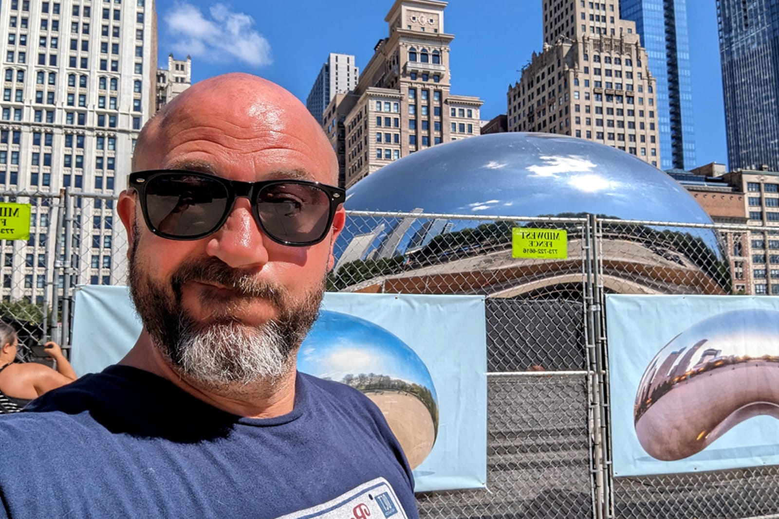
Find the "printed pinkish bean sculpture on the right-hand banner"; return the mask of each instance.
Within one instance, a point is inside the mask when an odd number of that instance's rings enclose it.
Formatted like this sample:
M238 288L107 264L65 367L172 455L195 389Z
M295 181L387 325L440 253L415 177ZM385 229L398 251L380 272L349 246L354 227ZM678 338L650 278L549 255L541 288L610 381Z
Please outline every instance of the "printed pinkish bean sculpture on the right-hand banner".
M752 416L779 419L779 312L735 310L671 339L636 393L636 435L652 457L702 451Z

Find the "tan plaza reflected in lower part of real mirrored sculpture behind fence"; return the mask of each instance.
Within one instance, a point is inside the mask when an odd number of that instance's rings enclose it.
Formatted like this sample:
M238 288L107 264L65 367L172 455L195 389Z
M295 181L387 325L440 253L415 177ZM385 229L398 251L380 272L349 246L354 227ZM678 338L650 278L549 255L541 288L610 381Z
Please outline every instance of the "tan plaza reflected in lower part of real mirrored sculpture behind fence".
M603 240L601 249L605 258L601 282L610 293L724 293L718 280L685 254L663 256L626 239ZM368 258L375 252L368 253ZM425 247L407 252L413 254L407 255L402 272L377 275L346 290L484 293L500 298L561 294L577 298L581 290L582 243L578 237L569 238L568 258L558 260L512 258L510 242L454 246L435 255L427 254Z

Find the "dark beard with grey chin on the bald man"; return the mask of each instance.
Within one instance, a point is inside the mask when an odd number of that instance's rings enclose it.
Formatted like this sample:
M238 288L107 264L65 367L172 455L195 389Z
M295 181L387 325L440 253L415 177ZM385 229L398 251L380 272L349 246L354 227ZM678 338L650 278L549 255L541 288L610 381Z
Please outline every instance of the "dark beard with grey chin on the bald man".
M292 353L319 314L324 278L320 286L295 300L283 286L259 281L217 258L197 258L182 263L166 286L151 279L136 261L137 237L136 231L129 264L130 295L143 327L174 370L208 387L257 380L273 384L287 373L294 363ZM192 281L231 290L224 298L200 297L200 306L211 312L208 321L197 321L182 306L182 285ZM257 299L270 303L278 317L252 325L231 315Z

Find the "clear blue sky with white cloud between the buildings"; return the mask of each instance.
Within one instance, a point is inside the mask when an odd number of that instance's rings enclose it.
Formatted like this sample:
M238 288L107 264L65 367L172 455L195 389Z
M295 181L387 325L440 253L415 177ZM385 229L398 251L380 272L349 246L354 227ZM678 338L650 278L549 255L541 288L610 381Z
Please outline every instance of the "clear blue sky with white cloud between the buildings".
M445 11L452 93L484 100L483 119L506 113L506 90L541 50L542 0L451 0ZM329 52L354 54L362 70L387 35L393 0L187 0L157 2L160 64L192 56L192 80L243 71L305 100ZM714 0L688 0L698 165L727 164ZM694 43L693 43L694 42Z

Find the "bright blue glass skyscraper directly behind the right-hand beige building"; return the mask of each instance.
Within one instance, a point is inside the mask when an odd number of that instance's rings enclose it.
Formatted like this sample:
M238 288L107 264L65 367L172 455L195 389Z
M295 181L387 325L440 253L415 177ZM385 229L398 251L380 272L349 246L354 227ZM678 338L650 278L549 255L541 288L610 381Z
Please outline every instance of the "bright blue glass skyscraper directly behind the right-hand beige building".
M661 169L696 167L686 0L619 0L619 12L636 22L657 81Z

